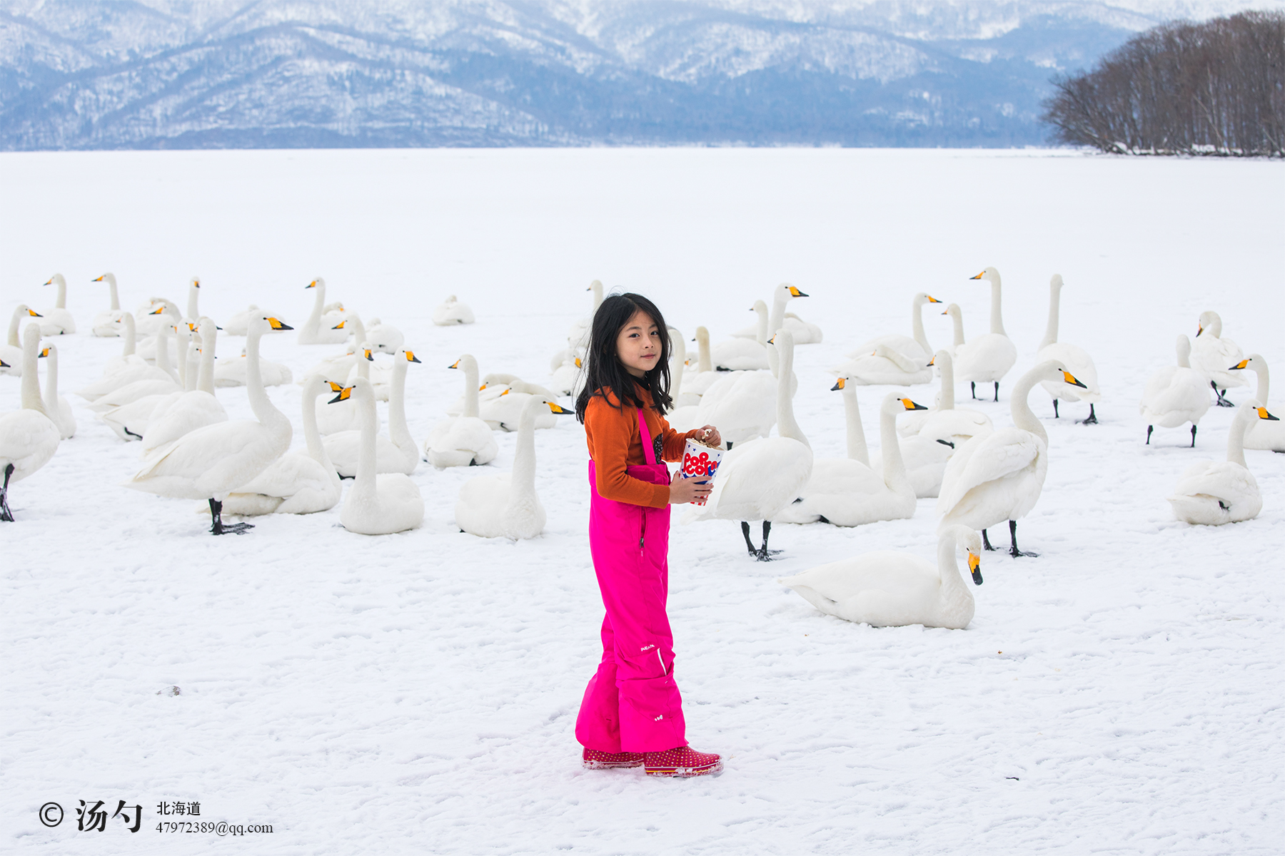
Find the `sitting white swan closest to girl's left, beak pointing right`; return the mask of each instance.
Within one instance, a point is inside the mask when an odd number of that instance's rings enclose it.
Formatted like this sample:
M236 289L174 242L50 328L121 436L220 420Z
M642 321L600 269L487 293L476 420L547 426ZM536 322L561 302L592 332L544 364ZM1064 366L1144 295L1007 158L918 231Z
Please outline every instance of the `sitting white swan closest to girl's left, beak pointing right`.
M460 488L455 522L479 538L535 538L545 529L545 508L536 494L536 416L571 411L547 398L529 395L518 421L513 472L488 472Z

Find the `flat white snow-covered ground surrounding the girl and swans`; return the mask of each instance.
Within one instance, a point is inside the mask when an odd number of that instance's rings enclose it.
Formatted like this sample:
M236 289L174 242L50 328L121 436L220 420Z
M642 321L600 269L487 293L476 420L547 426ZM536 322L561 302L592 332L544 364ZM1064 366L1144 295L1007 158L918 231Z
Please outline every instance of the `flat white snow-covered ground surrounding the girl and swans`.
M1285 820L1281 652L1285 456L1246 454L1257 520L1173 520L1164 497L1222 457L1232 411L1142 444L1137 400L1217 309L1225 335L1285 384L1285 168L1240 160L1031 151L438 150L0 155L0 321L69 282L82 332L58 341L80 420L17 484L3 556L3 848L207 852L213 833L157 834L158 802L203 821L271 824L253 853L1276 853ZM834 377L870 335L908 332L917 290L983 332L1004 275L1019 350L1001 402L1065 277L1061 339L1097 361L1101 424L1054 421L1043 495L1022 525L1040 558L983 557L968 630L824 617L775 578L871 549L932 557L934 501L858 529L779 526L779 561L747 557L731 522L676 527L671 617L689 737L717 779L580 769L573 724L598 660L601 606L586 543L581 427L537 435L545 534L481 540L454 526L475 470L414 479L418 531L365 538L338 509L263 517L212 538L197 503L118 486L139 447L71 395L118 340L85 335L116 272L227 318L248 303L298 325L329 299L406 332L407 413L423 438L482 372L549 375L589 309L585 289L653 296L687 336L747 325L780 281L825 343L798 350L798 421L843 453ZM434 327L450 293L478 323ZM947 318L925 312L929 339ZM240 340L220 338L221 353ZM265 339L296 376L335 347ZM884 390L861 390L879 445ZM968 397L960 384L957 394ZM1232 390L1241 402L1249 390ZM274 388L292 415L299 389ZM915 388L919 400L933 390ZM0 377L4 408L18 380ZM248 413L244 389L220 390ZM1285 400L1280 391L1277 402ZM1285 415L1282 415L1285 416ZM514 435L499 436L506 468ZM997 533L998 543L1006 543ZM177 697L158 694L177 685ZM78 800L144 809L77 832ZM45 802L67 819L46 829ZM175 820L175 817L164 817Z

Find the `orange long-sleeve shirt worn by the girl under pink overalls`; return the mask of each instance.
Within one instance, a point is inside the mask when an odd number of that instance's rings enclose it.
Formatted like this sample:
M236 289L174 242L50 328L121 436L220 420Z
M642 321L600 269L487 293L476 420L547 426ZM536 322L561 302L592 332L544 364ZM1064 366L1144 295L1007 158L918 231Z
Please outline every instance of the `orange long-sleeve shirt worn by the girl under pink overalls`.
M589 399L585 408L585 439L589 443L589 457L594 459L598 474L598 495L603 499L627 502L634 506L664 508L669 504L669 486L651 484L635 479L625 472L630 465L644 465L642 436L639 432L639 412L635 407L621 407L619 399L605 390L610 402L600 395ZM695 436L700 429L680 434L669 427L664 417L655 412L651 393L636 388L637 397L644 402L642 415L651 432L651 441L660 439L662 449L657 461L681 461L682 448L689 436Z

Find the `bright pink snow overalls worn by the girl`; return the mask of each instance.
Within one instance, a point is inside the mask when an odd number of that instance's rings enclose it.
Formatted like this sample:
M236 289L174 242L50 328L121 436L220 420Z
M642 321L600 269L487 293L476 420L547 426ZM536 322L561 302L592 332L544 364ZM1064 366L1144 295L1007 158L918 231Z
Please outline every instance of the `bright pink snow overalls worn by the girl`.
M646 465L626 474L669 484L657 462L642 409L639 431ZM603 661L576 719L576 739L600 752L663 752L686 746L682 697L673 681L673 634L664 604L669 595L669 508L649 508L598 495L594 462L589 549L603 592Z

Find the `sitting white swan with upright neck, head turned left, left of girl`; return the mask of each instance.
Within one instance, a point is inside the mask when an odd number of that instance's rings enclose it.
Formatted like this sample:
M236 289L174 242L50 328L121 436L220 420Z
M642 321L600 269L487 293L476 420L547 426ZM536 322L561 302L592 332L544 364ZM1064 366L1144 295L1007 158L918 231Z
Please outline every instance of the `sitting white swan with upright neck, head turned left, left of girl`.
M357 402L361 413L361 449L356 477L339 509L339 522L359 535L391 535L418 527L424 522L419 485L403 472L375 472L375 397L370 381L359 377L343 393ZM330 400L341 398L335 395Z

